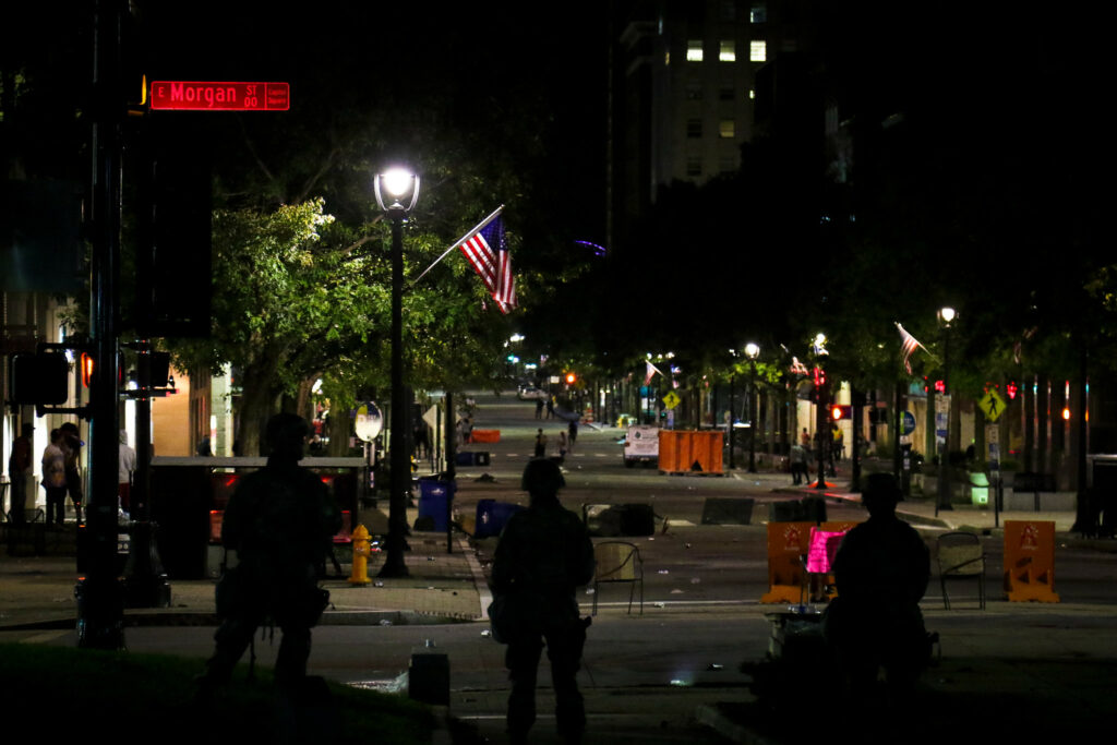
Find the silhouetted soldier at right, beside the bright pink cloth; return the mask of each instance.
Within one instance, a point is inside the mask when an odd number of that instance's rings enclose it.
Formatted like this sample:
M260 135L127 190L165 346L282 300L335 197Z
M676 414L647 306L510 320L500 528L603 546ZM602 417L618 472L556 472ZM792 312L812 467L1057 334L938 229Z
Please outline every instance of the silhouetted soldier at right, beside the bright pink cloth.
M860 701L871 696L880 668L889 693L903 699L929 657L919 600L930 558L915 528L896 517L899 496L890 474L871 474L861 495L869 519L846 535L834 557L838 598L827 610L827 638Z

